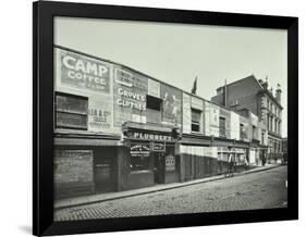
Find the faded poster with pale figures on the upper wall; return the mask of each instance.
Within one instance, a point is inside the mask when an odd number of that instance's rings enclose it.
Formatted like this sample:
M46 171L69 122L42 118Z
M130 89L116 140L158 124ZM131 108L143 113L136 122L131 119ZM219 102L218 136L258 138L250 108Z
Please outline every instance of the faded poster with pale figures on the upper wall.
M162 123L181 126L182 124L182 92L167 85L160 85L162 99Z

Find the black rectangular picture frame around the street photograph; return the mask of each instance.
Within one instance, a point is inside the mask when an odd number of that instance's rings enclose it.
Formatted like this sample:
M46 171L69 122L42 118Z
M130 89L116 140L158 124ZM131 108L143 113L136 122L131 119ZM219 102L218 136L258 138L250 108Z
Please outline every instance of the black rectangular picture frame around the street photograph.
M53 222L53 17L72 16L287 30L287 208ZM33 3L33 234L64 235L298 219L298 18L154 8Z

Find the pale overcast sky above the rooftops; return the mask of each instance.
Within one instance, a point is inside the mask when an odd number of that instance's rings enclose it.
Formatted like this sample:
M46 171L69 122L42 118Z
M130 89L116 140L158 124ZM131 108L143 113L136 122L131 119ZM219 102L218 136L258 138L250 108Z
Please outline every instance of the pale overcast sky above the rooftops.
M56 17L54 43L108 59L210 100L252 74L281 84L286 137L286 30Z

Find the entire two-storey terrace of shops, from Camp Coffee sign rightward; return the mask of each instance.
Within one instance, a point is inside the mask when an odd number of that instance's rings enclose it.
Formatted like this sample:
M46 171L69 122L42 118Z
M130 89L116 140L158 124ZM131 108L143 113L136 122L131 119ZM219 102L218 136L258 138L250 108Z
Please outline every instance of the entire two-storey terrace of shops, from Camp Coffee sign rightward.
M260 165L267 129L126 66L54 48L56 198L187 182Z

